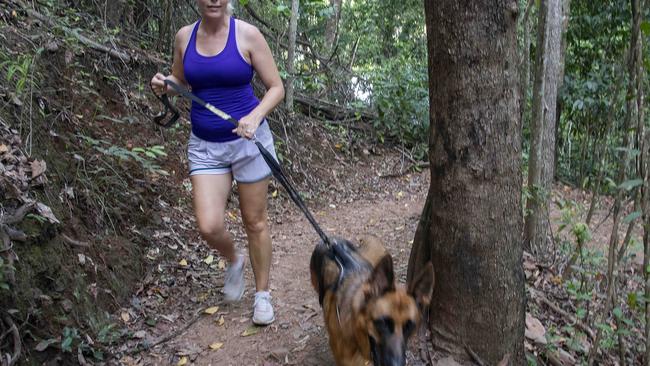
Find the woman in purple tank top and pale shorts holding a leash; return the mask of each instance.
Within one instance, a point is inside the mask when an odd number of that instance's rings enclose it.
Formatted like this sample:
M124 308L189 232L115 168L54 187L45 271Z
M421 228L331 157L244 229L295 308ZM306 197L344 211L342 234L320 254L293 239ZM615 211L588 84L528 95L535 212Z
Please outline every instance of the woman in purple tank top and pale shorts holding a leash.
M157 73L151 85L157 94L171 92L165 79L188 86L240 121L235 128L192 103L188 160L193 204L201 236L229 262L225 299L238 301L244 293L245 260L224 223L232 180L237 181L257 290L253 322L267 325L275 320L269 293L271 235L266 211L271 171L248 139L255 136L275 155L264 118L284 98L284 87L264 37L254 26L231 16L228 0L197 0L197 4L201 19L176 34L171 75ZM254 72L267 89L262 100L253 94Z

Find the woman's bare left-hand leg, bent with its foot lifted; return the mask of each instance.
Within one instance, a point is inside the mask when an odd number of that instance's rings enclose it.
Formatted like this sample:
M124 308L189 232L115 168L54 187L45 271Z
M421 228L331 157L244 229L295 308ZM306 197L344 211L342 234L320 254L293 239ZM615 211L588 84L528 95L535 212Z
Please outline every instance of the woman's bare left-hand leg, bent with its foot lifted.
M235 246L226 230L224 214L230 188L231 173L192 175L192 201L201 237L228 262L236 259Z

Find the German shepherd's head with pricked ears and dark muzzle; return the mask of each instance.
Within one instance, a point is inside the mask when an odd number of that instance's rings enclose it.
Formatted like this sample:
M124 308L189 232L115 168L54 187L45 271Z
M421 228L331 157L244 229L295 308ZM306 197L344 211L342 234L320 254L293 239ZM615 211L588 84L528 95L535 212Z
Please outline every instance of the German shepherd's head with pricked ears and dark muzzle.
M420 322L433 294L433 265L429 262L408 289L395 285L393 259L384 256L365 283L361 321L375 366L403 366L408 338Z

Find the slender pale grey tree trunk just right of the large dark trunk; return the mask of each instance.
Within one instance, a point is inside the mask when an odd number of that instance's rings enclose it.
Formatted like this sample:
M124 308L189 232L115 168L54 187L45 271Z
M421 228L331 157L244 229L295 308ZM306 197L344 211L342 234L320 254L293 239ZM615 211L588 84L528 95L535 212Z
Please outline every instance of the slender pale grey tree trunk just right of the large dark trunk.
M555 114L560 84L562 0L542 0L537 27L537 60L531 119L524 240L529 250L547 252L549 193L555 159Z

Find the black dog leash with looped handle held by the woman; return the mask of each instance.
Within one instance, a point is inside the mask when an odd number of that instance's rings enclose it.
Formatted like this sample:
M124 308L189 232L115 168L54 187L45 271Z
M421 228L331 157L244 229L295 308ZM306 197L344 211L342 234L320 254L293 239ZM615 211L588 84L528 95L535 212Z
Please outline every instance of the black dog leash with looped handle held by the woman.
M235 127L237 127L239 125L239 121L234 119L231 115L229 115L228 113L226 113L226 112L220 110L219 108L213 106L212 104L205 102L203 99L197 97L196 95L191 93L186 88L176 84L175 82L173 82L173 81L171 81L169 79L165 79L165 86L167 86L167 85L171 86L176 92L178 92L183 97L195 101L199 105L205 107L205 109L209 110L210 112L212 112L212 113L216 114L217 116L221 117L222 119L225 119L226 121L232 123L233 125L235 125ZM167 96L165 94L163 94L162 97L158 97L158 99L160 99L160 101L163 102L163 104L166 107L166 111L164 112L164 114L167 114L168 110L172 110L172 112L174 112L174 116L170 119L171 122L167 122L165 124L159 123L164 119L163 114L161 114L160 116L155 117L154 121L160 126L169 127L174 122L176 122L176 120L178 119L179 112L178 112L178 110L176 108L174 108L169 103L169 99L167 98ZM158 121L156 121L156 118L158 118ZM327 245L330 248L331 247L336 247L336 246L332 245L332 242L330 241L330 239L327 237L327 235L325 234L323 229L321 229L321 227L318 225L318 223L316 222L314 217L311 215L311 212L309 212L309 209L307 209L307 205L305 205L305 202L302 200L302 198L300 198L300 194L291 185L291 183L287 179L287 176L284 174L284 171L282 170L282 167L275 160L273 155L271 155L271 153L268 150L266 150L266 148L264 148L264 146L262 146L262 143L259 142L255 138L255 136L253 136L253 138L251 138L250 141L254 142L255 145L257 145L257 148L260 150L260 154L262 154L262 157L264 158L264 161L266 161L266 163L269 165L269 168L271 169L271 172L273 173L273 176L275 177L275 179L277 179L280 182L280 184L282 184L282 186L287 191L287 193L289 193L289 197L291 197L291 200L305 214L305 217L307 217L307 220L314 227L314 229L318 233L318 236L320 236L320 238L323 240L325 245Z

